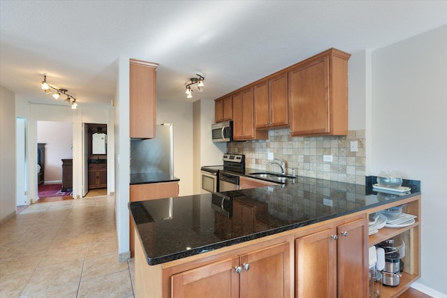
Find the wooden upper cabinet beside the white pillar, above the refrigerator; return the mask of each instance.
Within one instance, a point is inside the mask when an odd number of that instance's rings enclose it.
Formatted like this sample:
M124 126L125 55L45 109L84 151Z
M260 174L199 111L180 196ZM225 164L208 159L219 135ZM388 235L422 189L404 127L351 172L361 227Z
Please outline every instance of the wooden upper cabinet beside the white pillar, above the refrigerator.
M159 64L130 59L130 137L156 135L156 67Z

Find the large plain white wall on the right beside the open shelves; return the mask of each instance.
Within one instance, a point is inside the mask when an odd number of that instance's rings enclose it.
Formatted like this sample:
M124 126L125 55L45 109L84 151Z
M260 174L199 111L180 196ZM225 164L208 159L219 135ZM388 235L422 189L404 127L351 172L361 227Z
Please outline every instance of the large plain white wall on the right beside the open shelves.
M421 180L422 274L447 295L447 26L372 52L372 174Z

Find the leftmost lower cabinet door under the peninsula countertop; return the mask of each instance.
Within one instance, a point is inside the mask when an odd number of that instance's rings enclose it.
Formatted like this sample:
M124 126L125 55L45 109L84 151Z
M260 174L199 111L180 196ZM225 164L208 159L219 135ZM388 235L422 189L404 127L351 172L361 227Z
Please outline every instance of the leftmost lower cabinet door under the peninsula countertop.
M235 270L239 265L239 258L235 257L174 274L171 276L171 297L239 297L240 274Z

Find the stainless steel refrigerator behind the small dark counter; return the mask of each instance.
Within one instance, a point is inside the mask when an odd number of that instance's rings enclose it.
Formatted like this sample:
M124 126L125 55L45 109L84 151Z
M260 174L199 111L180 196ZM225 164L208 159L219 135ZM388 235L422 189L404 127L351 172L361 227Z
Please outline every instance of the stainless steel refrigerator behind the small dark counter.
M174 175L173 124L156 126L156 137L131 140L131 174L165 172Z

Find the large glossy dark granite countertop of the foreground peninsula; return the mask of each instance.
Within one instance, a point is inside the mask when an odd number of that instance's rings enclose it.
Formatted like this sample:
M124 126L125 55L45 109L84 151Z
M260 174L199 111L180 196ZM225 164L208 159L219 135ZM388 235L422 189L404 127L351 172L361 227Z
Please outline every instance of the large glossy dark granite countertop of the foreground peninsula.
M411 191L378 193L371 185L297 177L282 186L131 202L129 209L147 263L157 265L420 194L420 181L403 185ZM223 195L231 198L226 211L219 208ZM241 204L254 208L249 226L240 220Z

